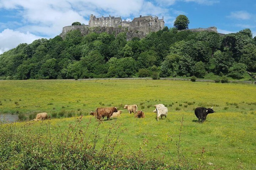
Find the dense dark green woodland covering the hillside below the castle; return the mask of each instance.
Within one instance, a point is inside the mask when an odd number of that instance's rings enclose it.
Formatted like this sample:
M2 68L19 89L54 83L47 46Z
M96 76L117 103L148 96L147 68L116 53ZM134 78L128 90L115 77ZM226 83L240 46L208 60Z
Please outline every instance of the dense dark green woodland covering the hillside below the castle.
M126 33L38 39L0 55L0 79L179 77L207 74L242 79L256 73L256 37L250 29L219 35L165 27L126 41Z

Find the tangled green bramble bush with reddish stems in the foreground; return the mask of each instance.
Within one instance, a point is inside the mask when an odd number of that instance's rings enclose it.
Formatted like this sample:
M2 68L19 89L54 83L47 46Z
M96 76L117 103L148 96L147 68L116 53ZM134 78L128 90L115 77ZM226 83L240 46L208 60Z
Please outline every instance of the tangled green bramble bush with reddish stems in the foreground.
M91 119L86 127L82 125L82 116L74 125L69 125L66 132L60 130L57 137L51 134L50 120L40 123L39 132L33 135L31 132L33 123L27 122L20 129L15 123L2 124L0 122L0 169L202 169L205 165L202 163L203 151L200 155L200 161L193 165L188 163L181 153L181 128L177 146L177 160L173 157L173 165L169 165L162 158L149 158L149 153L163 152L166 149L163 146L146 148L148 141L143 140L139 149L135 152L125 153L117 145L122 144L120 134L125 133L127 129L120 130L120 125L114 122L108 129L104 139L99 137L99 128L102 122L89 131ZM46 129L45 129L46 125ZM59 127L60 128L60 127ZM47 133L43 135L42 131ZM32 134L32 135L31 135ZM103 140L103 146L97 148L99 140ZM33 142L31 142L33 141ZM203 148L204 149L204 148Z

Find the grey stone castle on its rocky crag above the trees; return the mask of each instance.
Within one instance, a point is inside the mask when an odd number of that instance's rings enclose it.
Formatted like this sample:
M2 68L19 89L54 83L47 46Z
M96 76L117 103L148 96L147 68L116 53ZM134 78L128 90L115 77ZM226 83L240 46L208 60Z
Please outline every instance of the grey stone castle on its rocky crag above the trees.
M117 35L120 32L126 32L127 40L133 37L143 38L149 32L157 32L162 30L165 26L164 17L158 19L157 16L139 16L134 18L132 21L122 20L121 17L98 17L96 18L93 14L90 16L88 25L73 25L65 26L62 29L60 36L65 37L66 33L72 30L79 29L82 35L86 35L90 32L107 32L109 34L114 33Z

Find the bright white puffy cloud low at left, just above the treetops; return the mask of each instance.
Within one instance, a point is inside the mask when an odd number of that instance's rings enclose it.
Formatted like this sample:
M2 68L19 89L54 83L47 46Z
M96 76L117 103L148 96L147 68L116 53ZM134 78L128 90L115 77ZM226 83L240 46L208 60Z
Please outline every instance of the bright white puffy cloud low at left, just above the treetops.
M0 54L17 47L21 43L30 44L35 39L40 38L43 37L35 36L34 34L31 34L29 32L22 33L11 29L5 29L4 31L0 32Z

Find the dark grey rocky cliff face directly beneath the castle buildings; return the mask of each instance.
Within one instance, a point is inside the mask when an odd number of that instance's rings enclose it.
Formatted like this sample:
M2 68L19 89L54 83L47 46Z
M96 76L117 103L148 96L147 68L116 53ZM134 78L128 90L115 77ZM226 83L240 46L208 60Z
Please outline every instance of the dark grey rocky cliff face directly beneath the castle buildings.
M134 29L131 29L130 27L121 27L121 28L114 28L114 27L89 27L88 25L73 25L73 26L65 26L62 29L62 33L59 35L62 38L66 36L66 33L72 30L80 30L82 36L85 36L91 32L96 32L96 33L102 33L102 32L107 32L108 34L114 34L117 36L120 32L126 32L127 36L127 41L133 39L133 37L138 37L138 38L144 38L146 37L146 33L142 31L137 31Z

